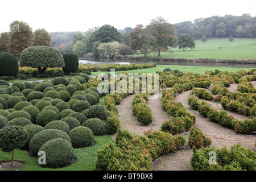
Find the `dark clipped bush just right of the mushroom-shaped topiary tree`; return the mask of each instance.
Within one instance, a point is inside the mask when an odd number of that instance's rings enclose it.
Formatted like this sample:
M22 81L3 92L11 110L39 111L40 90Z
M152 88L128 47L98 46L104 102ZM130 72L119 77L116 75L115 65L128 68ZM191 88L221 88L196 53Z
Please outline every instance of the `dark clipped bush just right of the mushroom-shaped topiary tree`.
M63 67L63 71L70 73L70 72L77 72L79 69L79 57L72 52L64 53L63 59L65 61L65 67Z

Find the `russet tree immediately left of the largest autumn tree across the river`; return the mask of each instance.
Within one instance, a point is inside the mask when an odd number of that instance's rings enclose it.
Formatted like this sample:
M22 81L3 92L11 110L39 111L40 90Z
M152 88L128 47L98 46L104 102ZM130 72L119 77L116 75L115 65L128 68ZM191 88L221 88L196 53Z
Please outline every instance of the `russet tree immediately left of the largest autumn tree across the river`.
M140 51L144 56L150 53L150 46L148 44L148 35L146 29L142 24L137 24L133 31L130 32L130 49L135 53Z

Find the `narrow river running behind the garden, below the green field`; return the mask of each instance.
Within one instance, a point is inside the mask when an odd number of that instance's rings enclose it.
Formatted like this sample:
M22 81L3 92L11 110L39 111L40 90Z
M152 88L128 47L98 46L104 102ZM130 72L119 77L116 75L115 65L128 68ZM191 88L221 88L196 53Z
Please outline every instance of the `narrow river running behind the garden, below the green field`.
M155 63L157 65L190 65L201 67L236 67L236 68L256 68L256 64L243 64L243 63L204 63L192 61L154 61L154 60L115 60L115 59L102 59L94 57L86 57L86 59L79 60L80 64L143 64Z

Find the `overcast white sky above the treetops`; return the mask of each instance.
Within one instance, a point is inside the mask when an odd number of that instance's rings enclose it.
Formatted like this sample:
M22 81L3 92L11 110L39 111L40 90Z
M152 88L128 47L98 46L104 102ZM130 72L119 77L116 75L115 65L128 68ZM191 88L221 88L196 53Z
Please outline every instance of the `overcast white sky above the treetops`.
M214 15L256 16L256 0L4 0L0 7L0 32L9 31L15 20L28 23L33 31L54 32L87 31L104 24L118 30L134 28L156 16L172 24Z

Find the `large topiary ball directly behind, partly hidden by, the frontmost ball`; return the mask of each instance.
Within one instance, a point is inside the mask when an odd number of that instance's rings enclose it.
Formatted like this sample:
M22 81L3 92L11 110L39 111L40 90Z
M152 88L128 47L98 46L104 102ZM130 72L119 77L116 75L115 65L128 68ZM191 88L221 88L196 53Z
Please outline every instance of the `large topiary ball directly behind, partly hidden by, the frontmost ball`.
M39 131L32 137L30 140L29 149L32 154L37 155L39 149L43 146L44 143L48 142L51 139L63 138L71 143L71 139L67 133L58 129L46 129Z

